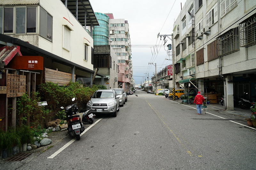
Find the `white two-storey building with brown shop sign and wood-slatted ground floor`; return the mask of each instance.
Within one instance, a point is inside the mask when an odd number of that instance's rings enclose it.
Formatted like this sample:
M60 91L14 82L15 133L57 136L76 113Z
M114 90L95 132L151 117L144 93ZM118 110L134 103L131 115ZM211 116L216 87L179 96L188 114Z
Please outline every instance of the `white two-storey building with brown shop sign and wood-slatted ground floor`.
M36 85L46 81L67 85L78 78L88 78L88 85L92 85L94 60L90 33L94 26L99 23L89 0L0 1L0 85L7 89L0 94L3 105L0 117L6 117L1 129L15 127L16 109L8 115L8 105L13 106L16 97L23 93L30 94L30 89L35 92ZM26 85L17 82L22 91L8 89L13 88L6 83L8 76L23 78ZM97 73L97 76L103 82L105 75Z

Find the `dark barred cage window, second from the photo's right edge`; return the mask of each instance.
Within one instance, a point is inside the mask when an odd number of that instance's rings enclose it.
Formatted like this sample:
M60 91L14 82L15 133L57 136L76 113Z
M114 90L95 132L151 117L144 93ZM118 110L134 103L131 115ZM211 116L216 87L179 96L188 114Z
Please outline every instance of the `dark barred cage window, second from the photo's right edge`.
M217 55L224 56L238 51L240 48L238 27L229 30L217 38Z

